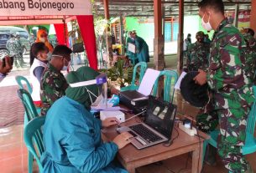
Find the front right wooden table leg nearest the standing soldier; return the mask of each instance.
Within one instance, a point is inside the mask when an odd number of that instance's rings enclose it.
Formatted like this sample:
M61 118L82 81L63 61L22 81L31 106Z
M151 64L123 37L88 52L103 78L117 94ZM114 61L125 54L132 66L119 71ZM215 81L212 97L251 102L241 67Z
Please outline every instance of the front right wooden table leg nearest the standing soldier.
M193 151L192 155L192 171L191 173L200 173L202 168L202 152L203 152L203 141L201 141L201 145L196 147L196 150Z

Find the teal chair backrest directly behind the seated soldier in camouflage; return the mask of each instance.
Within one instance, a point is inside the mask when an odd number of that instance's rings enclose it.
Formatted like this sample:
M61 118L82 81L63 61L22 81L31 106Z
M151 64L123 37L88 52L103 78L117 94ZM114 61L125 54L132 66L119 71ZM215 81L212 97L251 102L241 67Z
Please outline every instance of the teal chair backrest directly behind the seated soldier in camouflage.
M33 99L31 98L31 95L26 89L18 89L17 94L19 99L21 99L22 104L24 104L24 109L27 114L27 120L33 120L35 117L38 117L39 114L37 113L37 110L34 106Z

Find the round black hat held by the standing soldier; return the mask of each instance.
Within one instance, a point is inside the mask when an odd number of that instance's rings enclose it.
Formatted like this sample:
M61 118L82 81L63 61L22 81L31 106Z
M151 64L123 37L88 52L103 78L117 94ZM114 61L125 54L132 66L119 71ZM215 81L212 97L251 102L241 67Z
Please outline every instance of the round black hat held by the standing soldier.
M189 104L202 108L209 101L209 86L208 84L196 84L194 78L197 74L199 74L197 71L191 71L185 74L185 77L180 83L180 93Z

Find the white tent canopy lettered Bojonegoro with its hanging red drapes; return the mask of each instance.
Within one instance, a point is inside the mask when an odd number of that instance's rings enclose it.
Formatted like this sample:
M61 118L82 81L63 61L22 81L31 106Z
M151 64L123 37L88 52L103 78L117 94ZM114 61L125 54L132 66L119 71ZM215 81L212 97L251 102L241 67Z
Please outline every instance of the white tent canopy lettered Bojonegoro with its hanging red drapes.
M51 15L52 14L52 15ZM5 0L0 2L0 25L54 24L60 44L68 46L66 23L77 19L92 69L97 69L97 48L91 0Z

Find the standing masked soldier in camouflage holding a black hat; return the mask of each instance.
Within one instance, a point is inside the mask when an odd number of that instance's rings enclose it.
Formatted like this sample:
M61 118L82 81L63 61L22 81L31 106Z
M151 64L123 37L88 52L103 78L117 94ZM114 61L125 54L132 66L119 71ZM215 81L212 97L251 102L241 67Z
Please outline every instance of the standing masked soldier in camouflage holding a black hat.
M222 0L199 3L201 23L206 30L215 30L210 53L210 67L200 70L197 84L209 84L217 109L220 136L217 150L225 167L234 173L253 172L241 150L246 137L248 113L253 104L252 87L244 72L246 46L238 28L224 17Z

